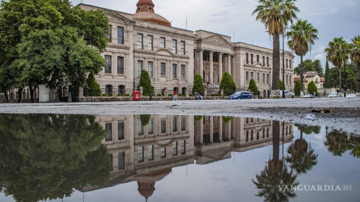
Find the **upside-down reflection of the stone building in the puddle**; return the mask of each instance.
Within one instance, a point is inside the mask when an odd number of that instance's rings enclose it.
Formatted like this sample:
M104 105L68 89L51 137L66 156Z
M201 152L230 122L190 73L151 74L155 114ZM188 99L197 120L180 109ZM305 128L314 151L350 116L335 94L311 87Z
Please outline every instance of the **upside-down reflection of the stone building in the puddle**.
M173 167L208 164L273 144L273 122L258 118L221 116L123 115L96 116L107 133L110 178L103 186L79 189L88 192L136 181L148 199L156 182ZM293 124L279 123L277 145L293 140ZM279 154L279 153L278 153Z

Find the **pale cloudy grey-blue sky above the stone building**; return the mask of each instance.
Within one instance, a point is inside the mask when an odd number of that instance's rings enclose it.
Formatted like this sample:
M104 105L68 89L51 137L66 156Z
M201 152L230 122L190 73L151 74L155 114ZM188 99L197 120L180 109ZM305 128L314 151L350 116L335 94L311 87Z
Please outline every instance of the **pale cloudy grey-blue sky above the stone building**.
M77 5L81 0L70 0ZM135 13L138 0L83 0L85 4L100 6L126 13ZM264 26L255 20L252 12L257 0L153 0L155 12L172 26L197 31L200 29L233 37L235 42L273 48ZM324 49L334 37L350 42L360 35L360 0L298 0L298 18L308 20L319 31L319 40L305 59L319 59L325 69ZM232 39L234 40L234 38ZM281 42L280 42L281 43ZM281 43L282 45L282 43ZM285 50L288 50L285 40ZM300 63L296 57L295 65ZM331 67L331 64L330 64Z

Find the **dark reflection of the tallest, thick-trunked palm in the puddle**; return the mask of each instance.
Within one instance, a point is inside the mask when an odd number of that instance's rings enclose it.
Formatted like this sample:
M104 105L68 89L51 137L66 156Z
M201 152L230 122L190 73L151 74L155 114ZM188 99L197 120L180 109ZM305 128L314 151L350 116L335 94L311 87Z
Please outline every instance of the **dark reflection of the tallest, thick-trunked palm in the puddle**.
M256 175L257 182L252 180L259 189L256 195L264 197L264 201L286 202L290 198L296 197L293 190L280 189L282 185L291 187L298 185L299 182L296 180L297 175L284 166L283 160L279 160L279 145L280 122L273 121L273 159L270 159L264 170Z

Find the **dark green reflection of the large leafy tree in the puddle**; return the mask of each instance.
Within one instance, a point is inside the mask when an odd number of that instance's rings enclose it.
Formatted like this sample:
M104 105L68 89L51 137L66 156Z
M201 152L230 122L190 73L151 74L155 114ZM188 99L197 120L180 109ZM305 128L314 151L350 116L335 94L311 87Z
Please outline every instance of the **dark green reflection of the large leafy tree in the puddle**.
M94 116L2 115L0 190L16 201L68 197L109 176L105 138Z

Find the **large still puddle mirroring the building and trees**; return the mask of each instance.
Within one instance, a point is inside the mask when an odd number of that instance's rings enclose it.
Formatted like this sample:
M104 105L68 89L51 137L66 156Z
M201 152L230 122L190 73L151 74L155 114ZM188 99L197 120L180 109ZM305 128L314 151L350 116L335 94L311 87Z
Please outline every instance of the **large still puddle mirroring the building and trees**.
M360 196L360 137L326 127L221 116L0 114L0 128L1 202Z

